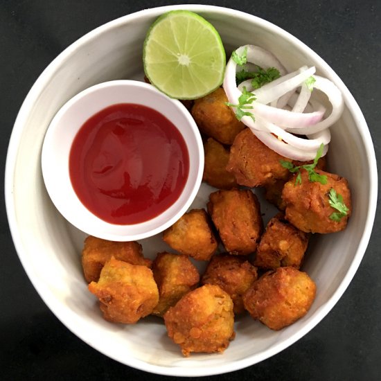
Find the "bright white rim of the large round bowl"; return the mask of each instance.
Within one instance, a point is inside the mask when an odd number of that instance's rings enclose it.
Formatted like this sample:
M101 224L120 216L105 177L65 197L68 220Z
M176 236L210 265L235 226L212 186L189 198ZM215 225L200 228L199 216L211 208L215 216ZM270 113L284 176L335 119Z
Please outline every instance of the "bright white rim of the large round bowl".
M362 136L362 141L364 142L364 150L366 152L367 160L371 164L368 169L369 179L371 180L371 182L369 184L369 189L367 189L368 197L369 197L369 213L366 216L366 222L364 224L364 233L358 244L353 261L351 265L348 267L348 271L346 272L344 278L342 279L342 282L339 284L339 287L337 287L337 290L335 290L335 292L330 297L328 302L322 305L321 308L319 308L319 310L314 314L314 317L310 319L310 321L308 321L308 323L305 324L305 326L303 326L302 329L298 330L296 333L294 333L293 335L285 339L283 342L275 344L274 346L272 346L271 348L268 348L267 350L261 352L260 354L249 355L248 357L245 357L242 360L236 360L235 362L224 363L218 366L211 366L209 368L191 368L191 367L179 368L179 367L169 367L169 366L157 366L157 365L149 364L147 362L143 362L141 360L136 360L136 359L132 359L132 361L125 361L125 359L122 359L120 356L109 355L108 353L105 352L104 348L99 348L94 346L93 344L89 344L86 337L82 335L82 332L76 329L76 327L71 326L70 319L67 319L67 317L65 317L65 314L60 313L62 310L62 306L59 303L56 303L53 299L49 299L48 290L44 287L42 283L38 282L37 277L34 276L33 271L30 269L28 265L28 258L26 255L24 255L23 242L21 240L21 235L19 234L19 231L17 230L17 218L15 215L15 208L14 208L15 203L13 200L13 186L14 186L13 174L15 170L15 163L17 161L18 143L21 138L21 134L23 132L23 126L28 117L29 112L33 108L33 100L39 94L39 91L44 87L46 82L48 82L51 79L55 71L55 67L57 67L57 65L62 60L69 57L69 55L71 55L73 51L76 51L82 43L89 42L92 39L95 39L98 35L103 33L103 31L109 28L114 28L121 24L132 21L136 19L136 17L139 17L141 15L157 17L163 12L168 12L170 10L176 10L176 9L186 9L186 10L191 10L191 11L200 12L200 13L212 12L214 14L218 14L221 16L233 15L235 17L239 17L240 19L242 19L242 21L247 21L249 23L254 22L255 24L258 24L259 26L262 26L269 30L273 30L274 33L276 34L281 33L283 35L283 38L290 41L292 44L298 45L299 48L302 48L304 51L308 52L308 55L310 55L311 57L314 58L314 60L319 62L318 67L324 68L330 73L330 78L333 79L337 87L339 87L339 89L342 91L342 94L344 96L344 101L346 105L348 105L348 108L351 109L351 114L353 114L355 123L359 126L358 132L360 136ZM312 51L311 48L309 48L307 45L301 42L301 40L294 37L283 28L280 28L265 19L261 19L260 17L257 17L255 15L250 15L249 13L246 13L246 12L233 10L231 8L226 8L222 6L208 6L208 5L202 5L202 4L181 4L181 5L171 5L171 6L160 6L155 8L147 8L144 10L139 10L138 12L133 12L133 13L130 13L129 15L124 15L122 17L109 21L106 24L98 26L94 30L91 30L89 33L83 35L82 37L77 39L75 42L73 42L73 44L65 48L64 51L62 51L62 53L57 55L57 57L55 57L55 59L50 64L48 64L48 67L46 67L46 69L44 69L44 71L40 74L39 78L37 78L33 87L31 87L30 91L28 92L24 100L24 103L21 105L21 108L19 109L19 113L17 114L15 125L13 127L12 134L10 136L10 143L8 145L4 184L5 184L4 190L5 190L5 198L6 198L6 212L8 215L8 224L10 227L10 233L12 235L12 240L14 242L15 249L17 251L21 264L23 265L24 270L26 274L28 275L31 283L33 284L33 286L39 293L39 296L41 296L44 303L46 303L48 308L55 314L57 319L59 319L62 322L62 324L64 324L64 326L66 326L69 330L71 330L71 332L73 332L76 336L80 337L82 341L87 342L89 345L96 348L96 350L99 351L100 353L107 355L107 357L111 357L114 360L121 362L122 364L132 366L142 371L148 371L151 373L156 373L161 375L177 375L177 376L215 375L215 374L228 373L231 371L237 371L239 369L243 369L247 366L251 366L260 361L266 360L272 355L276 355L276 353L279 353L283 351L285 348L287 348L288 346L294 344L294 342L296 342L305 334L307 334L310 330L312 330L312 328L314 328L314 326L316 326L322 319L324 319L324 317L326 317L326 314L328 314L328 312L330 312L330 310L335 306L335 304L337 303L339 298L342 296L342 294L344 294L344 291L346 290L349 283L351 282L353 276L355 275L355 272L357 271L357 268L360 266L362 257L364 256L366 247L369 242L369 238L371 236L373 222L375 219L375 210L376 210L377 196L378 196L377 163L375 159L375 151L373 148L373 143L371 139L371 134L369 132L369 128L366 125L365 118L360 110L360 107L357 105L355 98L353 98L351 92L348 90L346 85L344 85L344 82L342 82L339 76L337 76L335 71L333 71L333 69L317 53L314 53L314 51Z

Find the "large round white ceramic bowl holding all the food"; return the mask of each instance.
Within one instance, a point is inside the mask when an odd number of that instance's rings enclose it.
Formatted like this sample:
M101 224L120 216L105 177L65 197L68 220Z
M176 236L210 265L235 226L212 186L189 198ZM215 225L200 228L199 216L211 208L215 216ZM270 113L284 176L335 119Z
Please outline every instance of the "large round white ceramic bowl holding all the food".
M242 44L268 48L288 70L314 65L345 100L342 118L331 128L330 170L346 177L353 214L345 231L315 237L303 269L317 283L308 314L274 332L248 316L238 319L236 339L222 355L183 358L166 337L159 319L134 326L104 321L80 268L83 234L53 206L40 166L42 141L54 114L75 94L105 80L143 78L142 44L152 21L172 9L189 9L206 17L220 32L228 54ZM57 91L59 89L59 91ZM100 26L60 54L30 90L10 141L6 167L6 205L21 263L45 303L81 339L105 355L138 369L167 375L211 375L244 368L282 351L308 333L333 308L353 278L369 242L377 200L376 161L371 136L350 92L316 53L263 19L212 6L170 6L143 10ZM210 189L202 185L194 206L204 205ZM264 207L263 211L267 212ZM165 245L143 240L145 256Z

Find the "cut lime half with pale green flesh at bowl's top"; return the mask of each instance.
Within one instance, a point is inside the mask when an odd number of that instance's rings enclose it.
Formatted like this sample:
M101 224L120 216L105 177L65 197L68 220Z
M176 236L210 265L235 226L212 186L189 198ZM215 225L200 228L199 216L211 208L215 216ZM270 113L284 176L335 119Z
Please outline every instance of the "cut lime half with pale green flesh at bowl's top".
M148 30L143 46L145 76L163 93L196 99L217 89L226 55L218 31L194 12L173 10Z

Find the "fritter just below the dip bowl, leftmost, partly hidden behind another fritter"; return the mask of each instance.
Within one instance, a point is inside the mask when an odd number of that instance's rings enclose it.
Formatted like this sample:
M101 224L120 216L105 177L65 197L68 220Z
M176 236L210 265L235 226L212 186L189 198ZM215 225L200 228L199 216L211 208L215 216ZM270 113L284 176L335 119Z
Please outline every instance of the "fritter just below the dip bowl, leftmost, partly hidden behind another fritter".
M143 257L143 250L138 242L113 242L89 236L82 249L82 268L87 283L98 281L100 270L112 256L132 265L151 267L152 263L150 259Z

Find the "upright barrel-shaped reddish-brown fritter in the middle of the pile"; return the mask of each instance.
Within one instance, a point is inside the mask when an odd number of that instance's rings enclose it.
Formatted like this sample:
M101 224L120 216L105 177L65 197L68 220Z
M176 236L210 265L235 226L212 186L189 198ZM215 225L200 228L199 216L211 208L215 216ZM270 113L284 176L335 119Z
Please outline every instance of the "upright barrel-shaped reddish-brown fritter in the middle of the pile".
M218 190L209 195L208 211L230 254L256 251L263 231L258 198L249 189Z

